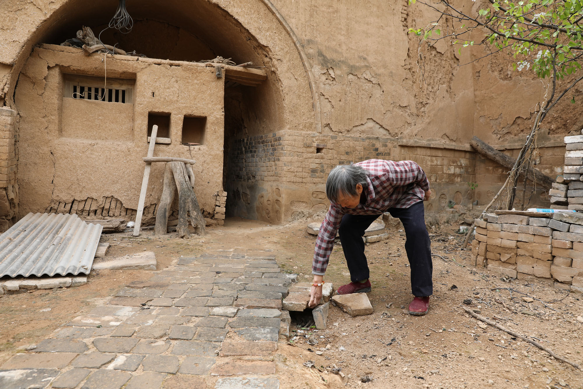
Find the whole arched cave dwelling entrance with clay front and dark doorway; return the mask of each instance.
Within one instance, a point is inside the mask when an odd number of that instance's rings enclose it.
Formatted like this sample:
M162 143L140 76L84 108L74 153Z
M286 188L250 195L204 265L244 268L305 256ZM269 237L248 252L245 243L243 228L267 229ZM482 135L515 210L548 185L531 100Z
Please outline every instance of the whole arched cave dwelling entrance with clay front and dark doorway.
M113 0L68 1L34 37L37 44L18 77L13 102L21 117L18 216L56 211L131 220L138 203L147 127L159 124L159 137L167 141L156 145L154 155L196 159L195 190L205 217L213 216L215 193L224 189L229 193L227 215L280 223L281 199L268 201L271 211L260 212L250 196L281 196L282 190L248 175L257 156L254 151L245 154L249 140L262 143L267 134L291 127L271 48L210 1L130 3L134 27L128 34L105 29L115 8ZM243 15L254 9L233 11ZM273 20L266 22L266 28L273 28ZM96 36L101 33L103 43L147 58L87 56L74 48L50 46L75 37L82 26L91 27ZM280 40L282 35L273 34ZM229 80L227 69L227 78L217 84L213 67L150 60L201 61L217 55L237 64L253 62L255 69L265 72L265 81L242 85ZM289 55L297 62L297 53ZM96 88L103 87L120 95L105 102L74 99L82 86L84 96L99 97ZM294 98L311 107L309 94ZM162 171L163 166L153 166L146 220L155 214Z

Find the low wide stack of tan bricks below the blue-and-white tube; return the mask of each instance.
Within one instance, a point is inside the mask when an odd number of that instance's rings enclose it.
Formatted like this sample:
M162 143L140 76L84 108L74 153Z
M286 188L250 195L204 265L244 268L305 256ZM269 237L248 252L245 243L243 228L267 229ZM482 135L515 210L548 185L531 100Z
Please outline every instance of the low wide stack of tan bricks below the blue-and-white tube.
M556 287L583 292L583 214L489 214L486 219L475 221L476 266L518 279L553 279Z

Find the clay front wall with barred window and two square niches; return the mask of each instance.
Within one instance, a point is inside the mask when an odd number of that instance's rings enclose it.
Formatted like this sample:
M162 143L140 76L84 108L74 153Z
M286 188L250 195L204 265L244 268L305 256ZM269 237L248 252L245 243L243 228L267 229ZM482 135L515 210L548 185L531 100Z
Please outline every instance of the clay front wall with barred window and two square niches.
M155 112L170 115L171 143L156 144L154 156L195 159L195 193L202 209L213 214L214 194L222 190L224 78L216 78L212 67L110 57L108 76L125 79L132 100L73 99L64 92L71 72L105 82L103 54L87 57L78 48L48 47L57 50L33 51L15 95L22 117L21 213L86 210L85 216L98 218L135 214L145 166L141 159L148 148L148 113ZM181 144L184 116L206 117L202 145ZM152 165L146 216L153 216L159 202L163 169L163 163Z

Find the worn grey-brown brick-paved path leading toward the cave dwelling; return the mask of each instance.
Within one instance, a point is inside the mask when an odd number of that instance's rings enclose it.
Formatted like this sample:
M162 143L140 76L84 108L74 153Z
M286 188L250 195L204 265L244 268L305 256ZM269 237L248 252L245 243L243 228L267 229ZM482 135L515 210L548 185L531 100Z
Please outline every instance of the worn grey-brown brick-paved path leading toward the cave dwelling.
M296 277L269 255L180 258L13 356L0 387L279 388L272 354Z

